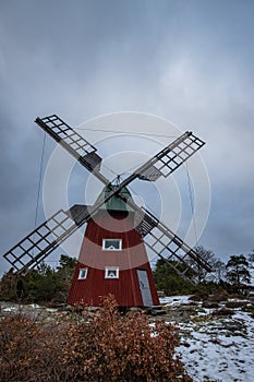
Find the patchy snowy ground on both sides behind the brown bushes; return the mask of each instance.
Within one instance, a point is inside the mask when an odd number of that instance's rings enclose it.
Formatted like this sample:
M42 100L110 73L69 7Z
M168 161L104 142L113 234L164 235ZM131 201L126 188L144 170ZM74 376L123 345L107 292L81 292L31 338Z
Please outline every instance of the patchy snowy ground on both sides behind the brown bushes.
M161 298L160 302L167 311L164 319L177 323L180 329L180 346L177 351L193 381L252 382L254 319L251 310L254 302L227 299L213 305L189 298L190 296L167 297ZM38 305L0 302L0 307L1 315L22 310L43 321L51 321L63 313L62 309ZM150 321L156 319L152 317Z

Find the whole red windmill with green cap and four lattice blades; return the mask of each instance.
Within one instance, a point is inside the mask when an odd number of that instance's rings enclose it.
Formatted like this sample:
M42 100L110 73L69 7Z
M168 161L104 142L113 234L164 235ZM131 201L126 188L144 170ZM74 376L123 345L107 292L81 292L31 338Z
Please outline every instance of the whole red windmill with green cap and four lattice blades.
M164 259L177 274L210 272L209 264L144 207L137 206L128 189L135 179L167 178L205 143L185 132L133 174L109 181L101 172L97 150L57 115L35 122L99 179L104 189L93 205L75 204L60 210L3 256L14 272L25 275L44 261L81 226L87 224L68 301L100 305L111 293L119 306L158 305L146 248ZM190 280L190 279L189 279Z

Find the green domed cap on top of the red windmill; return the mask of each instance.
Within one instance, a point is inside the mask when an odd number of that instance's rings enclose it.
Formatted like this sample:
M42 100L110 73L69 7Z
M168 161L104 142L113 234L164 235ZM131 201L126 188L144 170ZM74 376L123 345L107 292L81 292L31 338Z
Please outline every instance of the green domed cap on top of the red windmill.
M111 192L109 187L105 187L104 190L100 192L99 196L96 200L96 203L102 201L107 195ZM132 198L130 191L123 187L121 189L121 193L124 194L126 199ZM110 198L106 203L104 203L99 210L108 210L108 211L129 211L133 212L132 207L128 205L121 198L119 198L117 194Z

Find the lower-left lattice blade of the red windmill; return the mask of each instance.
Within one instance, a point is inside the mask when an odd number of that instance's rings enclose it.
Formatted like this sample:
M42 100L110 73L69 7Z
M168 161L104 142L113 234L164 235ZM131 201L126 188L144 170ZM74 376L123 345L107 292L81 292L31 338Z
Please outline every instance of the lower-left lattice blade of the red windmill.
M89 216L87 206L74 205L66 212L60 210L3 254L3 258L17 273L26 274L70 237L81 222L84 224Z

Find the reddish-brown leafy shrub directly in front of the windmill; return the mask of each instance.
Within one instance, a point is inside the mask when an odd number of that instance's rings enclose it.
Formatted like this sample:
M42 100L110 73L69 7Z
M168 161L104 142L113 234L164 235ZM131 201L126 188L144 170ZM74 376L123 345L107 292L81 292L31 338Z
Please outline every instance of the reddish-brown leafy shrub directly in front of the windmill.
M121 315L109 297L92 323L69 329L61 361L73 381L190 381L174 354L178 343L173 325L150 326L138 312Z

